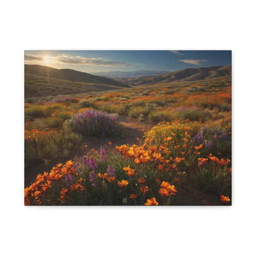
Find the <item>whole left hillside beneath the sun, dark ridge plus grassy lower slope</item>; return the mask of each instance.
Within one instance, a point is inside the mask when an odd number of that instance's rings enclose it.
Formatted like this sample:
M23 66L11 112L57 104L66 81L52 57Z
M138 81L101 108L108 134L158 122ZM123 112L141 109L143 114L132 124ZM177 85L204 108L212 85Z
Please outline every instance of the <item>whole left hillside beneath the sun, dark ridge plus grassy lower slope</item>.
M122 82L76 70L25 65L25 100L129 88Z

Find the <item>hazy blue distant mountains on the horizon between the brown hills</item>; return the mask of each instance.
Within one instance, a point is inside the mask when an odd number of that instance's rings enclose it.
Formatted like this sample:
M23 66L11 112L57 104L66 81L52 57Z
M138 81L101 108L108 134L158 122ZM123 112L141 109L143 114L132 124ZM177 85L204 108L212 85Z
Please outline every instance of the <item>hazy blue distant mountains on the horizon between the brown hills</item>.
M135 78L139 76L155 76L159 74L166 74L169 71L159 70L137 70L137 71L110 71L91 73L95 76L106 76L107 78Z

